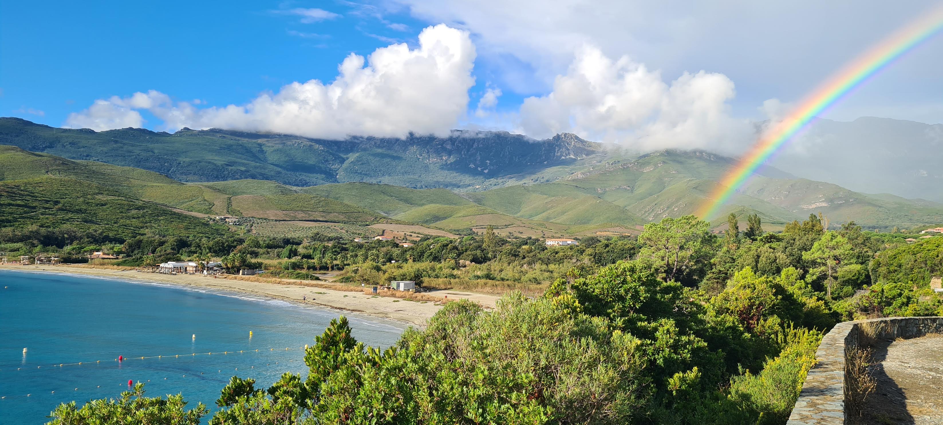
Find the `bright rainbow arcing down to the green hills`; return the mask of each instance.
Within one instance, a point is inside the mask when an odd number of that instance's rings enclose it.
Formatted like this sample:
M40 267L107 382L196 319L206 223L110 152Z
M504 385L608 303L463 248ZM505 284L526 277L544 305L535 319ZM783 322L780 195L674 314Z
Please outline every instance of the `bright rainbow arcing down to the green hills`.
M741 188L764 162L775 155L789 139L802 131L813 118L835 105L850 91L864 84L898 57L917 47L943 29L943 7L924 13L918 20L903 26L884 41L847 64L838 73L812 91L786 118L769 129L743 155L698 210L698 217L707 219Z

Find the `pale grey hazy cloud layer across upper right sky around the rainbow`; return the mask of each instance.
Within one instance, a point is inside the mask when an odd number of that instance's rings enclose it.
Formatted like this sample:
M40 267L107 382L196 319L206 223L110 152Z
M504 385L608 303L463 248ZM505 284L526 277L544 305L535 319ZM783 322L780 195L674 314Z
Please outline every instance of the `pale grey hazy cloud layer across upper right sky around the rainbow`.
M798 101L819 82L886 34L907 25L933 0L912 2L718 2L645 0L386 0L428 22L457 25L472 33L479 64L505 95L542 94L591 44L609 57L631 55L667 75L711 70L736 81L737 113L756 117L769 98ZM539 13L535 13L539 10ZM885 106L940 105L937 77L943 38L926 41L907 57L856 90L826 118L887 116ZM523 77L520 75L524 74ZM903 100L903 101L902 101ZM920 105L923 106L923 105ZM938 123L925 108L895 118ZM934 113L939 107L932 109ZM897 112L897 113L895 113Z

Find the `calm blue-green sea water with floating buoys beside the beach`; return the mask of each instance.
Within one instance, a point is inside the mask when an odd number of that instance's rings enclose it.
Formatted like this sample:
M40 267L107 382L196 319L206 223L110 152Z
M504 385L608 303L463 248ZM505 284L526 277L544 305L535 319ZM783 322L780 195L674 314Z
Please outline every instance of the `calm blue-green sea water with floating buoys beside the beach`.
M134 276L0 270L0 424L44 423L58 403L117 398L129 380L147 396L183 393L188 407L212 411L234 375L262 389L286 371L304 378L302 348L341 314ZM389 347L405 329L346 316L368 345Z

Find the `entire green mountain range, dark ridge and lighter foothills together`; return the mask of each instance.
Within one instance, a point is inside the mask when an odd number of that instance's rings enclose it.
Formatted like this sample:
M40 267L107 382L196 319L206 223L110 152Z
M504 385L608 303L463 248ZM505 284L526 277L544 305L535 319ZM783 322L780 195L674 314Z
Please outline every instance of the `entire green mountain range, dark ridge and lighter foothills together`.
M632 155L568 134L322 140L217 129L96 133L0 119L0 140L46 152L0 148L0 180L90 182L191 214L449 231L492 225L529 236L633 233L649 221L693 214L736 166L703 151ZM943 204L856 192L772 167L706 219L720 226L731 212L758 214L771 229L818 213L872 228L943 221Z

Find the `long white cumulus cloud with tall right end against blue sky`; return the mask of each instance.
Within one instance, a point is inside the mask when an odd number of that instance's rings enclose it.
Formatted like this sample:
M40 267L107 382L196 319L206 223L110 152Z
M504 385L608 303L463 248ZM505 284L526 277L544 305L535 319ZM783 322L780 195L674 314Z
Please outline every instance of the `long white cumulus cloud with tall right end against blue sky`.
M246 105L204 108L174 103L156 90L137 92L97 100L71 114L66 126L141 126L138 110L147 110L170 130L220 127L326 139L352 134L402 137L410 131L444 134L466 113L474 58L467 32L436 25L422 30L414 49L400 43L378 48L366 58L351 54L330 83L294 82Z

